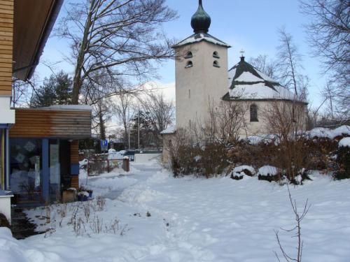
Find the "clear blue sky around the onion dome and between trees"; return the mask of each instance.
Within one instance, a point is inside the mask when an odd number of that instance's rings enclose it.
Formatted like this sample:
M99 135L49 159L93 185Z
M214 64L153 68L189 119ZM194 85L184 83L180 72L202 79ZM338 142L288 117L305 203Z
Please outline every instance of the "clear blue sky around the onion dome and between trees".
M66 0L68 3L69 0ZM197 0L167 0L167 4L177 10L179 18L164 24L167 35L179 40L193 34L190 18L197 10ZM229 53L229 68L239 61L239 51L245 50L245 56L256 57L267 54L274 57L276 46L279 45L277 29L286 27L293 35L294 41L303 55L304 74L311 79L309 99L311 105L321 103L320 89L325 82L321 75L321 64L318 59L311 57L311 49L306 42L303 24L308 18L299 10L297 0L203 0L204 9L211 16L209 34L232 45ZM60 16L64 15L64 8ZM64 40L50 38L45 46L41 61L52 64L62 61L62 54L69 54L69 48ZM72 73L71 65L61 62L55 64L55 70ZM160 82L175 81L174 61L167 61L159 68ZM50 75L51 71L43 64L39 65L36 73L38 80Z

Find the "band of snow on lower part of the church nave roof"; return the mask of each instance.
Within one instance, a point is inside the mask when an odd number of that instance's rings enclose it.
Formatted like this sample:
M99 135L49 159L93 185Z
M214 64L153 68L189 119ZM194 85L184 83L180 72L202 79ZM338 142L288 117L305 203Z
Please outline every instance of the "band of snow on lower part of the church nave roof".
M252 85L236 85L234 89L229 90L229 94L237 99L294 99L294 94L286 87L276 85L274 89L265 85L265 82L259 82Z

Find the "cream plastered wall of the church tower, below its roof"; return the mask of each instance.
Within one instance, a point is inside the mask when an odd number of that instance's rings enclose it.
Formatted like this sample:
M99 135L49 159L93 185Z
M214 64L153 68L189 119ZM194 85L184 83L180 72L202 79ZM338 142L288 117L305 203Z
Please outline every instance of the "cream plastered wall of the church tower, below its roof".
M193 57L185 59L189 51ZM213 57L214 51L220 59ZM176 49L176 56L176 128L188 126L190 121L203 123L209 101L219 103L228 92L228 49L202 41ZM188 61L193 67L186 68ZM213 66L214 61L220 68Z

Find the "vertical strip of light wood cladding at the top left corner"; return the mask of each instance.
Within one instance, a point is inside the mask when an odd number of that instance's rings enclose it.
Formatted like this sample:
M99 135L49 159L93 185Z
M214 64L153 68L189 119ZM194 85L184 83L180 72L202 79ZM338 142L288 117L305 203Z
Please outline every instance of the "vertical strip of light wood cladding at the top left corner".
M13 68L13 0L0 1L0 95L11 95Z

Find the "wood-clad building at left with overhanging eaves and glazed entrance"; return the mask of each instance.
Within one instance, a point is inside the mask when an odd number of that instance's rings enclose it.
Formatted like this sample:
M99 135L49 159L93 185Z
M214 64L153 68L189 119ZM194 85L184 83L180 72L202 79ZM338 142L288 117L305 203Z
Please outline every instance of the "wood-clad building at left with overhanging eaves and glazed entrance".
M23 203L78 187L78 139L90 137L89 108L10 108L13 77L31 78L62 3L0 0L0 189Z

